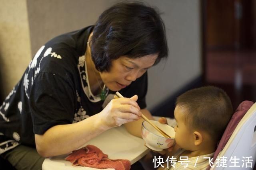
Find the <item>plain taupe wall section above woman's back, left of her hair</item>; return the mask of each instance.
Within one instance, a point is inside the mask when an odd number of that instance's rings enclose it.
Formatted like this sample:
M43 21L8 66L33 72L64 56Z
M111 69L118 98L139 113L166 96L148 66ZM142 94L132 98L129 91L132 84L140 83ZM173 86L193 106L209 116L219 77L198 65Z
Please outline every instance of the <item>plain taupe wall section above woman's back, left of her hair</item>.
M116 0L27 0L32 54L56 35L93 25Z

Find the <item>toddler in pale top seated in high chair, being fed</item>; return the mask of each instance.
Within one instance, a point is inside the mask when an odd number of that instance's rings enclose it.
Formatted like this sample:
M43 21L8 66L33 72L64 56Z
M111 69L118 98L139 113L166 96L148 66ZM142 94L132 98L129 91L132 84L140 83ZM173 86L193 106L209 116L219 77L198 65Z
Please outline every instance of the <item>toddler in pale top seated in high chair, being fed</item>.
M176 145L166 153L174 159L158 170L205 170L209 159L204 157L213 156L232 114L230 98L220 88L205 86L180 95L174 110Z

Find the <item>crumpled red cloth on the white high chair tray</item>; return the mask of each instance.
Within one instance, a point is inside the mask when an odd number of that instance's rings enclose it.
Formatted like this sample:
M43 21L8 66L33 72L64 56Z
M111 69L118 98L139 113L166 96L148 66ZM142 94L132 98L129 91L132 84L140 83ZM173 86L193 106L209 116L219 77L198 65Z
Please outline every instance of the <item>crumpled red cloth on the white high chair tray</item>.
M108 159L108 155L104 154L94 145L87 145L84 148L74 150L65 160L72 163L73 166L87 166L91 168L115 168L116 170L130 170L131 162L126 159Z

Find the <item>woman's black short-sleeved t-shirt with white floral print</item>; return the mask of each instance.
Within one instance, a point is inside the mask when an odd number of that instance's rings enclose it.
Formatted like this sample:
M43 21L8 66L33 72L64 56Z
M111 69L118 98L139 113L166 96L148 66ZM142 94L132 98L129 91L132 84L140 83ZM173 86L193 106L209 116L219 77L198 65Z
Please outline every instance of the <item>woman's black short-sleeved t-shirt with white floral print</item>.
M20 82L0 106L0 154L20 143L35 145L34 134L50 127L76 123L102 111L106 100L90 91L85 64L87 40L93 26L59 35L42 46ZM138 95L146 107L147 73L120 90L125 97Z

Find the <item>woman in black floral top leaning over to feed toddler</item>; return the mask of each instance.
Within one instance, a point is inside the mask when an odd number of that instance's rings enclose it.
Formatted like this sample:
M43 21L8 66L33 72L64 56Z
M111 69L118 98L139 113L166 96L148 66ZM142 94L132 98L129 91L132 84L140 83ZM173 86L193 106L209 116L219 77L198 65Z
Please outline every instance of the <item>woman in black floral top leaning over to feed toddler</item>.
M1 155L17 169L39 169L44 157L124 123L140 136L141 113L151 118L147 70L167 55L162 19L138 2L118 3L94 26L50 40L0 107ZM113 99L116 91L127 98Z

